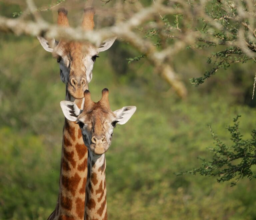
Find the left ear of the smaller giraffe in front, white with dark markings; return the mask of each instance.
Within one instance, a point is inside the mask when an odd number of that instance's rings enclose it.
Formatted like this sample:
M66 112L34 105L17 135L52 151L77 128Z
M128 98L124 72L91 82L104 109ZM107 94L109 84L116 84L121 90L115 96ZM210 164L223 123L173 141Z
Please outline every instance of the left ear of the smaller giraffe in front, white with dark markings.
M80 109L75 103L69 101L61 101L60 107L66 119L69 121L76 121L78 115L80 114Z

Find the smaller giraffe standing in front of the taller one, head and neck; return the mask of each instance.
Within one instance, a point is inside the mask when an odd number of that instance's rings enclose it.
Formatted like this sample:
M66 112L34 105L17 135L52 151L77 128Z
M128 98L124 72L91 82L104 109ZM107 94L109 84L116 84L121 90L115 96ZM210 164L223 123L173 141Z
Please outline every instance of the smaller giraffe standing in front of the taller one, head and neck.
M107 219L105 152L111 144L116 123L125 124L136 111L136 107L126 106L112 112L108 89L102 90L102 98L97 103L91 100L88 90L85 90L84 98L82 112L73 102L62 101L60 105L65 117L81 128L84 144L88 148L86 219Z

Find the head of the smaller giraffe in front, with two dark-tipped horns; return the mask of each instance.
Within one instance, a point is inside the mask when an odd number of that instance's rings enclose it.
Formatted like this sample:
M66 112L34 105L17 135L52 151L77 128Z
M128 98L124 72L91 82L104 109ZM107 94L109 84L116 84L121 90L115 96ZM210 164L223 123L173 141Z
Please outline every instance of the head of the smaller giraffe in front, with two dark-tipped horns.
M84 144L94 155L102 155L111 144L115 125L125 124L136 111L136 107L126 106L112 112L108 101L108 89L102 90L101 100L96 103L91 100L88 90L85 90L84 98L83 110L69 101L60 102L60 106L65 117L75 121L81 128Z

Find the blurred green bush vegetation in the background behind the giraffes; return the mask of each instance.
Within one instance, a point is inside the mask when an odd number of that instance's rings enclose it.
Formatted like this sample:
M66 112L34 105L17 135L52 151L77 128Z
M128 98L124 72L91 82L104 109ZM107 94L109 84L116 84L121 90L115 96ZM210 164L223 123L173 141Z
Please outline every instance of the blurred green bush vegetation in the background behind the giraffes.
M1 15L19 11L0 1ZM0 219L46 219L58 196L65 85L37 39L0 33L0 51ZM255 180L230 187L215 177L173 174L200 166L198 156L212 156L208 124L227 144L226 126L237 114L245 138L255 128L253 63L220 69L191 86L189 78L209 69L211 52L188 49L174 58L185 100L146 60L128 65L127 58L139 55L130 45L116 41L100 54L89 84L93 100L106 87L112 110L137 106L106 153L109 219L256 219Z

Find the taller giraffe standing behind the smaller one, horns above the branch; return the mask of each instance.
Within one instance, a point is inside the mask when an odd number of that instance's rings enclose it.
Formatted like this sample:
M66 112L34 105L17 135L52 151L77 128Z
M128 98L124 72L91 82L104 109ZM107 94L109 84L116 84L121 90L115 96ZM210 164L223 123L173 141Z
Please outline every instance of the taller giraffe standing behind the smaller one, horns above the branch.
M93 16L93 8L84 9L82 27L85 30L93 29ZM64 8L58 10L58 24L69 25L67 10ZM43 48L57 58L61 79L66 84L65 100L73 101L81 108L84 103L83 92L88 89L92 79L93 64L98 53L107 50L115 39L105 41L99 48L88 42L48 42L43 37L38 39ZM79 126L65 119L58 202L48 219L84 219L87 156Z

